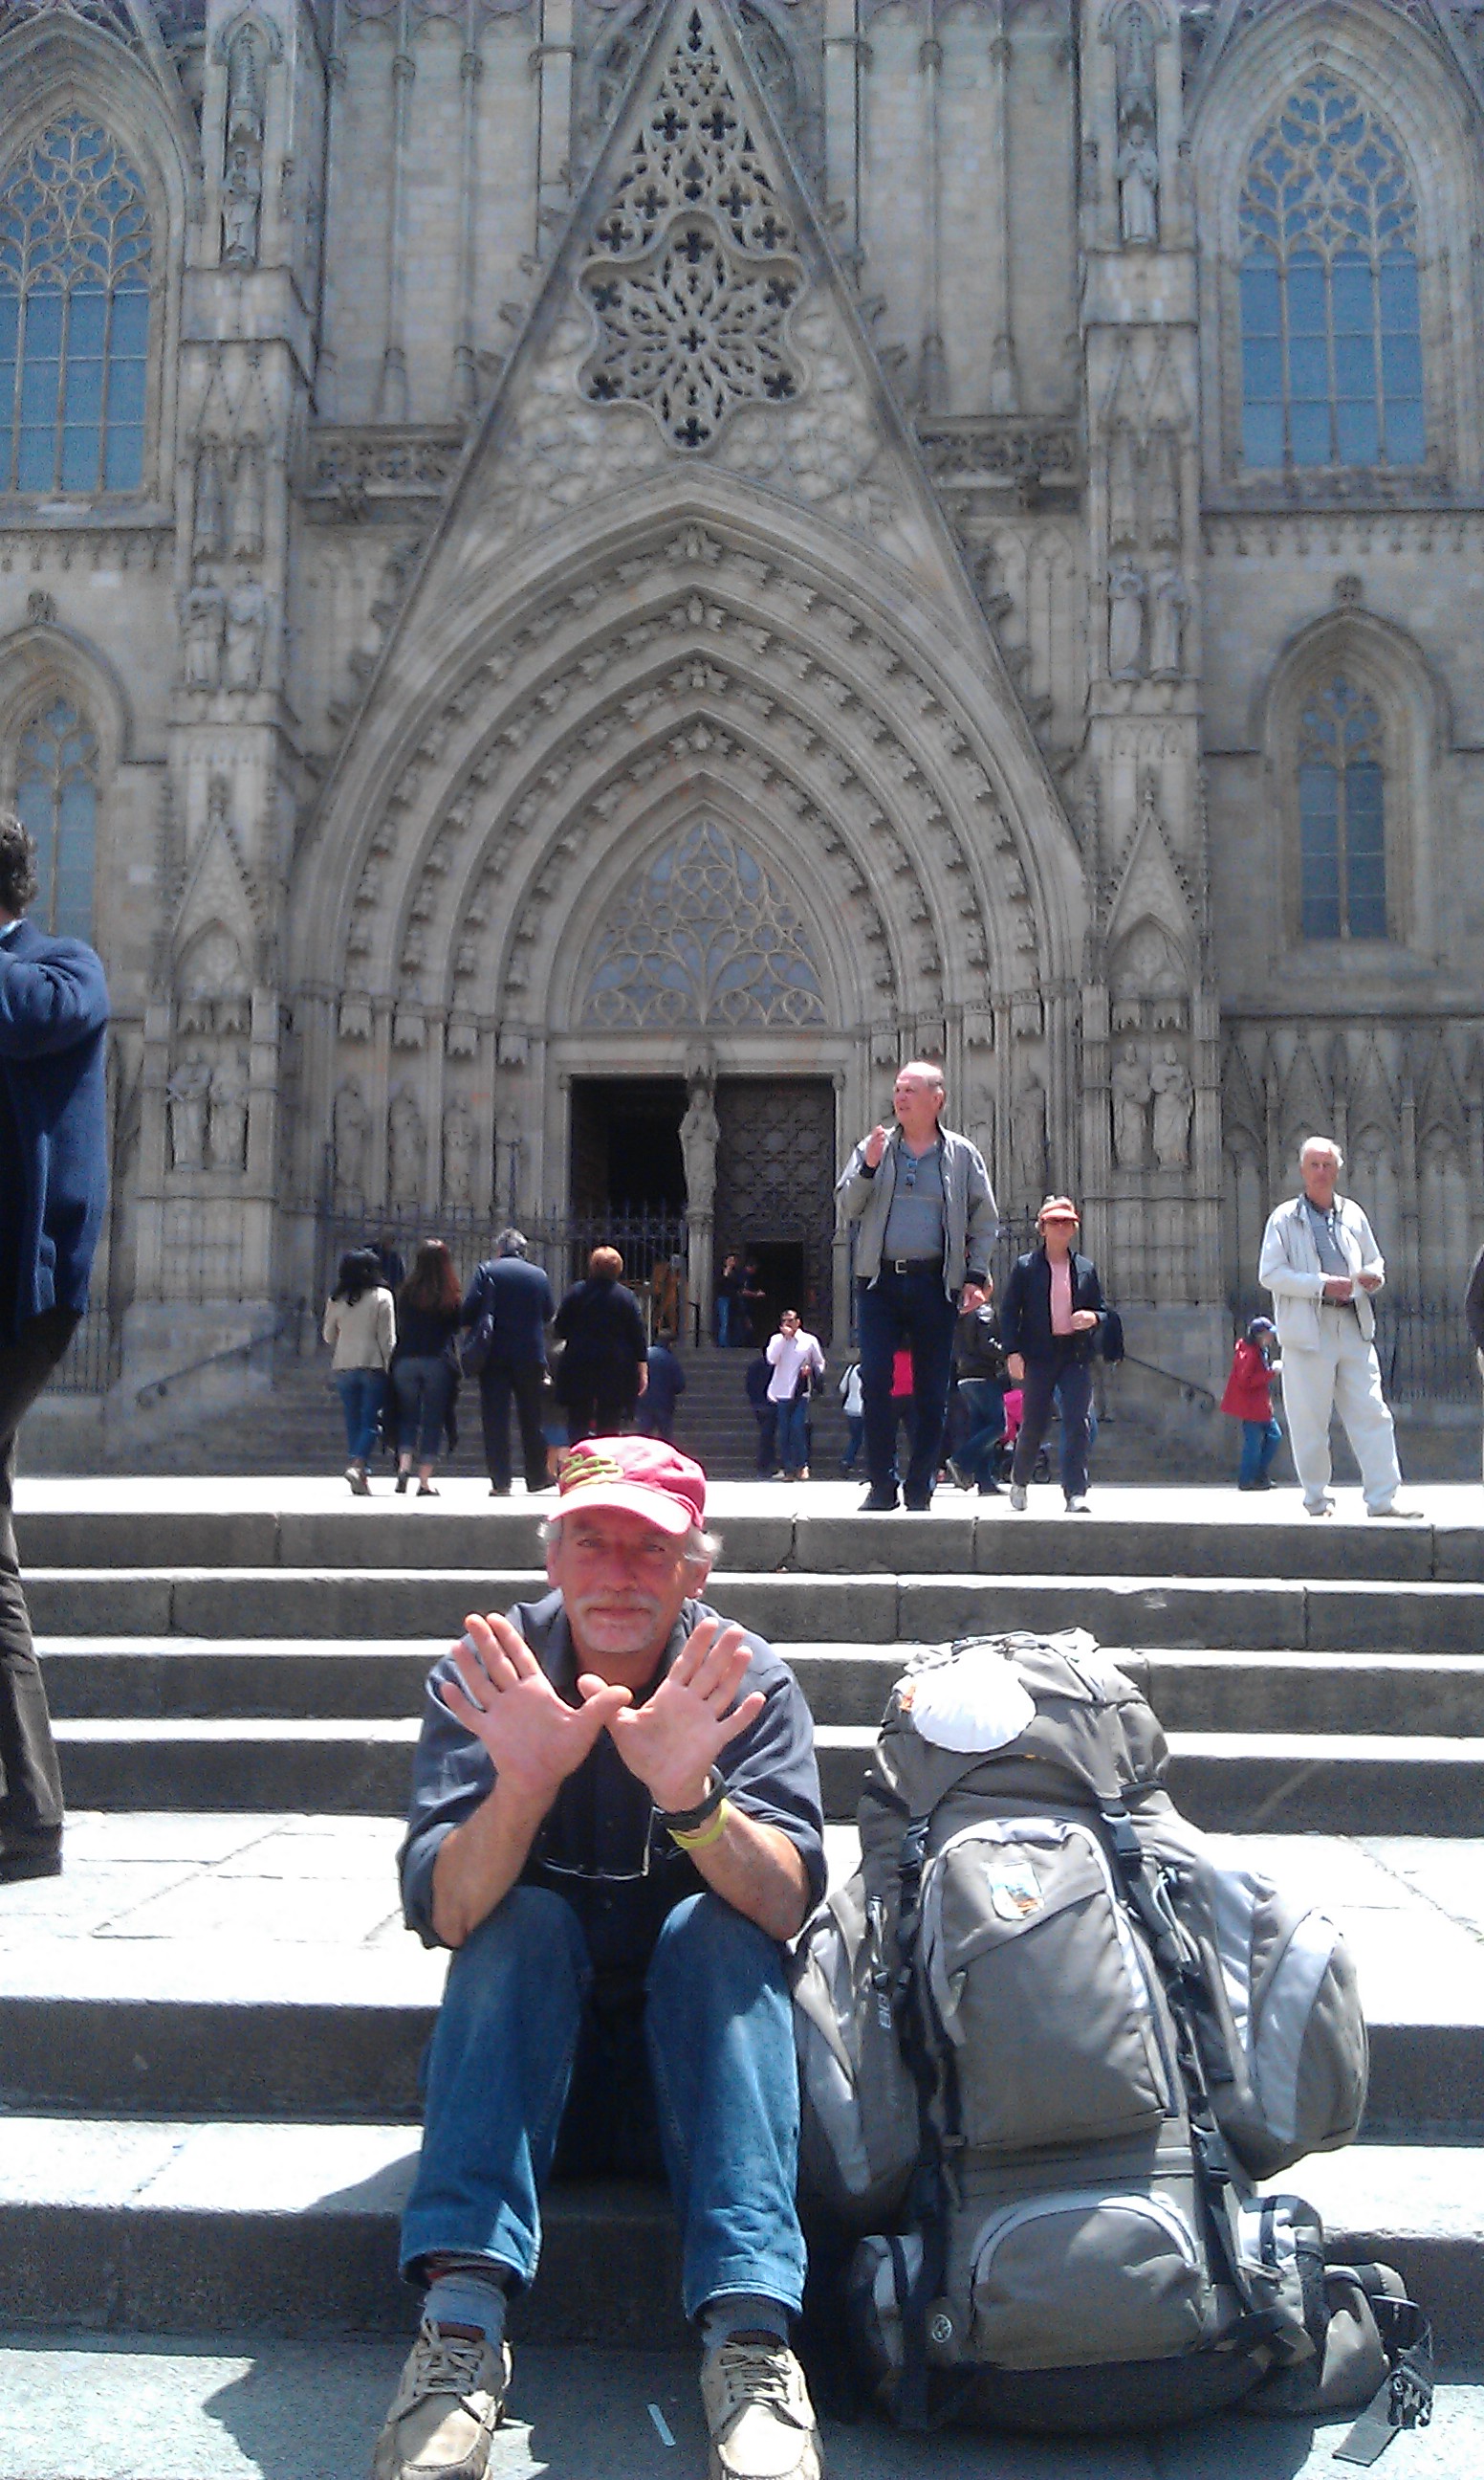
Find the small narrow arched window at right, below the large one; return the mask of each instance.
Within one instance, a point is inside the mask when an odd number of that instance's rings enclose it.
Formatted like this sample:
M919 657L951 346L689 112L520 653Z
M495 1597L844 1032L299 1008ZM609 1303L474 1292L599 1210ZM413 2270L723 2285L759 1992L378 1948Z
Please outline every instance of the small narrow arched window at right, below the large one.
M1380 714L1340 672L1298 722L1298 928L1387 937Z

